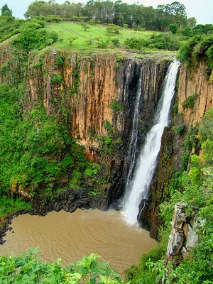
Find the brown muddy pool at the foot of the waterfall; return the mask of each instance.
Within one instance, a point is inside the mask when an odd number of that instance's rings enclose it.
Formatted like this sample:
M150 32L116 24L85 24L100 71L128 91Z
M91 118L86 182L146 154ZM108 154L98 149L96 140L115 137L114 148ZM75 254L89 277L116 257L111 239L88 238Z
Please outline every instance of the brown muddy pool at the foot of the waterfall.
M4 238L6 243L0 246L1 256L11 252L17 256L39 246L43 260L53 262L60 257L65 264L98 253L120 273L156 245L148 231L127 225L122 213L114 210L62 210L45 217L24 214L14 218L11 226Z

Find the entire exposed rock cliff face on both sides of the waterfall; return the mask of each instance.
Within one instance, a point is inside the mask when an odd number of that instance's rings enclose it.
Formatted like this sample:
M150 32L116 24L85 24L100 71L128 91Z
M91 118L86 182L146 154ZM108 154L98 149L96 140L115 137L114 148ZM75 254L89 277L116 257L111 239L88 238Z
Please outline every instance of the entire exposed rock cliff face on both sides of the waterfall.
M102 194L94 197L92 204L107 209L124 193L140 79L142 96L136 153L139 153L153 124L160 86L170 60L107 53L80 55L50 50L39 56L31 54L23 71L22 55L12 57L11 50L4 49L0 53L0 82L18 84L24 77L27 91L23 108L31 111L35 104L42 102L48 115L55 114L61 120L67 117L70 136L84 146L87 159L104 163L103 175L107 182L102 186ZM182 103L194 95L195 105L182 107ZM204 65L201 64L196 72L182 65L176 101L178 116L173 122L175 126L185 124L188 128L195 125L212 107L213 85L204 76ZM107 138L111 141L110 145L105 143ZM139 222L150 230L154 238L160 225L158 212L160 203L165 199L165 185L181 167L182 141L178 133L165 129L151 195L148 202L141 202L143 212Z

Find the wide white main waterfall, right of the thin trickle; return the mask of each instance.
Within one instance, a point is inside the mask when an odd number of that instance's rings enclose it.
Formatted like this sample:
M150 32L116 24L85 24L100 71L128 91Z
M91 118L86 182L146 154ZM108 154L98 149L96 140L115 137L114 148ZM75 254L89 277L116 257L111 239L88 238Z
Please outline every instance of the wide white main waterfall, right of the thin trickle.
M133 180L129 188L126 188L124 197L124 216L126 222L134 224L137 222L138 206L143 198L148 197L148 190L153 179L160 141L163 129L168 126L170 104L175 94L176 77L180 63L173 61L168 68L163 82L163 92L155 114L155 122L146 137L145 145L138 158ZM128 185L127 185L128 186Z

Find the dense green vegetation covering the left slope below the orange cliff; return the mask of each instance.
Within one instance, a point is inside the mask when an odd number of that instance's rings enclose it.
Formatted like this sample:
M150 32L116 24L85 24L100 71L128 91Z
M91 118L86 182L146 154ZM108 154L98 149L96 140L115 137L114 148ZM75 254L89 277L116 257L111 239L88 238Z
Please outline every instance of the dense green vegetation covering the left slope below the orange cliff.
M58 190L55 182L68 171L76 188L86 179L84 187L99 192L106 182L99 173L102 167L87 161L83 147L69 135L66 118L61 122L61 117L48 116L39 103L30 113L24 111L24 96L21 85L0 86L1 195L29 197L45 188L51 197Z

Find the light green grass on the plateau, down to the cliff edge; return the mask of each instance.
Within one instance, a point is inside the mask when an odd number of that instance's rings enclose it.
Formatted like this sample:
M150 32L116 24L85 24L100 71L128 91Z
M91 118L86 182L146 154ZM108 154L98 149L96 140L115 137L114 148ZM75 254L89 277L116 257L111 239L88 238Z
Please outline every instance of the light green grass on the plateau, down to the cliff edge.
M40 55L44 55L48 50L52 48L56 48L57 50L63 50L66 52L75 52L75 53L116 53L116 54L125 54L126 56L126 48L124 45L124 41L127 38L143 38L148 39L152 34L158 34L160 32L156 31L133 31L131 29L119 29L119 34L116 34L111 39L116 38L119 40L119 46L115 46L111 43L107 44L104 48L101 47L97 41L97 37L102 38L102 40L109 40L109 33L106 30L107 26L97 25L97 26L89 26L89 30L84 31L80 23L73 22L62 22L62 23L46 23L45 30L47 31L55 31L58 33L58 41L53 43L52 45L48 45L46 48L40 50L35 58L38 58ZM8 40L4 40L4 42L0 43L0 48L4 48L6 46L11 45L11 42L18 35L13 35L13 37ZM69 38L77 38L70 45ZM92 38L92 44L88 44L88 40ZM61 40L60 40L61 39ZM146 57L146 56L158 56L160 57L168 57L172 53L169 50L158 50L156 48L142 48L140 51L131 51L129 55L134 54L136 57ZM175 54L175 53L174 53Z

